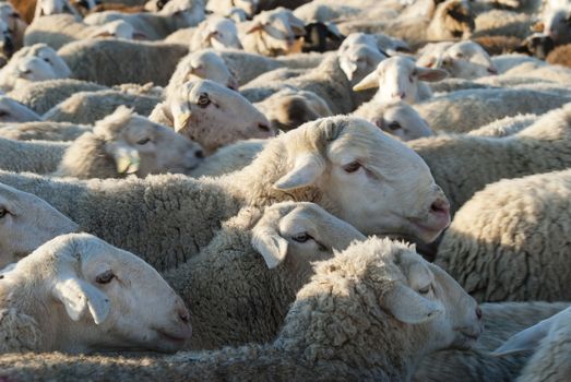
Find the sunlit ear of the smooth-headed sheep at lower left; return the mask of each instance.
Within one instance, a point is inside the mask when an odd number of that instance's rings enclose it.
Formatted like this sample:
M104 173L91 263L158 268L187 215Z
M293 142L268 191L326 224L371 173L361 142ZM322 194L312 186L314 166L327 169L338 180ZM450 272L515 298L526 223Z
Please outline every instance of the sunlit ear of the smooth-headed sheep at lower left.
M52 295L66 307L68 315L80 320L87 311L95 324L100 324L109 314L110 303L107 296L94 286L75 277L58 279Z

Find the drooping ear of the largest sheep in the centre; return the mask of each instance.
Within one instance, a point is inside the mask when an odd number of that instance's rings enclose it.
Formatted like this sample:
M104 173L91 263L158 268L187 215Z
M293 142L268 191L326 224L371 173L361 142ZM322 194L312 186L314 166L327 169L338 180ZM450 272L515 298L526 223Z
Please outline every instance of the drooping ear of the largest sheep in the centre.
M318 154L299 154L294 168L274 183L276 190L294 190L316 181L325 165Z

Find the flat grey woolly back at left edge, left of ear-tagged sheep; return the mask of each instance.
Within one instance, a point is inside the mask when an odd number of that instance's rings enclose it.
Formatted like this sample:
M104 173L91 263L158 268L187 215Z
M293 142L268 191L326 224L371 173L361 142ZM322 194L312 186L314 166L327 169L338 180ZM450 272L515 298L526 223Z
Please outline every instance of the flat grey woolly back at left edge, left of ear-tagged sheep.
M0 138L0 168L14 172L53 172L69 147L62 142L21 142Z

